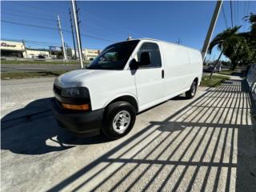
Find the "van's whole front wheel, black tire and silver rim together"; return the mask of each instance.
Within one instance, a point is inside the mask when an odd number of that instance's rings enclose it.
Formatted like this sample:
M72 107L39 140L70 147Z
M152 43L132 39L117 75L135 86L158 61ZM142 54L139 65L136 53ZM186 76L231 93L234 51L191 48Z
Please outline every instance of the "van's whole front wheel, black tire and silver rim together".
M136 119L136 110L129 102L114 102L106 107L102 133L110 139L122 138L130 132Z

